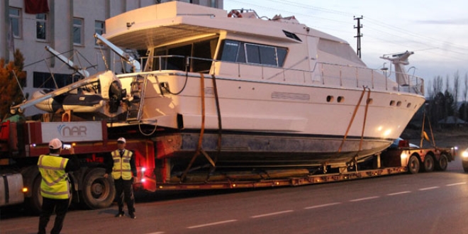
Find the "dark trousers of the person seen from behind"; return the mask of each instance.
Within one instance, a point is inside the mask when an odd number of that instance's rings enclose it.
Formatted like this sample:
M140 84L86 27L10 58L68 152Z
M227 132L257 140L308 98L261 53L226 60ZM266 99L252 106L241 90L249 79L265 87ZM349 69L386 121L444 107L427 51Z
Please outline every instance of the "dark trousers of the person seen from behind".
M50 231L51 234L60 233L62 230L65 214L68 211L69 199L48 199L43 197L43 211L39 217L39 230L38 234L45 234L45 227L49 223L52 213L57 215L55 217L54 228Z

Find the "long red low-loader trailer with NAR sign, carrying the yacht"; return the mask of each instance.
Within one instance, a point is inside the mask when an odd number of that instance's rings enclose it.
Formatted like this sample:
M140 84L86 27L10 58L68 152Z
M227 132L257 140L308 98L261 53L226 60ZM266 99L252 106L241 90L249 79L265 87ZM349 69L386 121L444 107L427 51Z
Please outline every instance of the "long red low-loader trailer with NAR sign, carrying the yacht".
M117 129L117 130L116 130ZM138 129L138 128L137 128ZM69 173L72 201L88 208L110 206L116 191L111 178L104 178L104 161L115 150L116 139L124 135L127 148L133 150L138 179L135 189L145 191L242 189L275 186L299 186L341 182L420 169L446 169L455 157L450 149L414 149L401 145L368 157L347 167L322 169L272 168L209 170L203 173L176 174L171 158L158 157L164 148L157 131L152 136L138 134L135 128L113 128L104 121L1 123L0 130L0 206L26 202L32 211L40 211L40 173L38 157L48 153L48 142L60 138L74 147L81 162L77 172ZM67 157L69 151L62 155ZM432 160L432 169L430 162ZM424 167L420 167L424 165ZM198 173L198 174L197 174Z

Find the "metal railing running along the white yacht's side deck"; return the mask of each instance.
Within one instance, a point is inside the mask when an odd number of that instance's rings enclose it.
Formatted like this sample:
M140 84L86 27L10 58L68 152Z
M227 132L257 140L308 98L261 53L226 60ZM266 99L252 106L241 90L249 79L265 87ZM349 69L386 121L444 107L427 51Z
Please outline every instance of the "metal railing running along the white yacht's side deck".
M148 57L140 58L145 65ZM301 62L301 61L300 61ZM226 62L183 55L152 57L152 71L182 70L216 75L231 75L239 79L262 79L288 84L312 84L326 87L368 87L372 90L424 94L424 80L406 72L392 72L351 65L315 62L313 69L284 68L242 62Z

